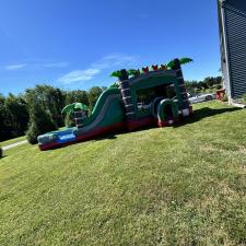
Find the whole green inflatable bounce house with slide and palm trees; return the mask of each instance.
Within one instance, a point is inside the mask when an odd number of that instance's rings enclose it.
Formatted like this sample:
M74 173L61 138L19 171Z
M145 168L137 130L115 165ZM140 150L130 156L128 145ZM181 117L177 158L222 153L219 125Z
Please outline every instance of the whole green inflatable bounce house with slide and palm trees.
M74 103L75 127L52 131L37 138L40 150L77 143L120 130L173 125L192 114L181 63L189 58L172 60L167 66L152 66L140 70L120 70L112 75L119 82L104 91L87 117L86 106ZM84 107L85 106L85 107Z

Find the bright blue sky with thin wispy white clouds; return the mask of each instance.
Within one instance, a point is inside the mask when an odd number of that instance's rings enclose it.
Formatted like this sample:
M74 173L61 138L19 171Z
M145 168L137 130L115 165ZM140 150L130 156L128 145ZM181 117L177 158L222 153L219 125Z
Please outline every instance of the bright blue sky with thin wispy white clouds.
M0 93L86 90L112 71L191 57L185 79L219 75L215 0L0 0Z

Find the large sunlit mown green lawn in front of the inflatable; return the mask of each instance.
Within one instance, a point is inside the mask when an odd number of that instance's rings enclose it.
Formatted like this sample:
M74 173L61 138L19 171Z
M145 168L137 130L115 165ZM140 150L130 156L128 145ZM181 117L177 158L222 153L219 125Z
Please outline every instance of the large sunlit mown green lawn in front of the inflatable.
M246 245L246 110L0 160L0 245Z

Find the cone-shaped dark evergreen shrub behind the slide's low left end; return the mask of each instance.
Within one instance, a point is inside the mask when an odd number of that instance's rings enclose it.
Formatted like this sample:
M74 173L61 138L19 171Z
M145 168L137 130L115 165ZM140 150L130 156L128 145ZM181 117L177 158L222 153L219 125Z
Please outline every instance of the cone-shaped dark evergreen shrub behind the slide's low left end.
M26 139L31 144L37 143L37 137L39 134L57 129L50 114L37 105L31 108L30 118L31 120L26 132Z

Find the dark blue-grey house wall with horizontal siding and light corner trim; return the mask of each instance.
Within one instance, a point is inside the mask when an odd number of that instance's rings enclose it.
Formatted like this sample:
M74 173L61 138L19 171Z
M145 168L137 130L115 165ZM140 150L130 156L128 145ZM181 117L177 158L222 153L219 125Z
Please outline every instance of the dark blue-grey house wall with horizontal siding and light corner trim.
M230 98L246 94L246 1L218 0L222 72Z

